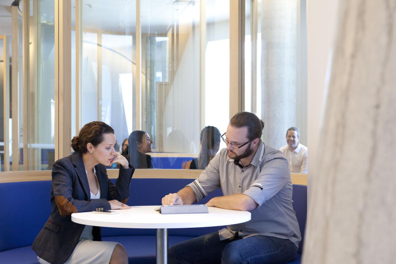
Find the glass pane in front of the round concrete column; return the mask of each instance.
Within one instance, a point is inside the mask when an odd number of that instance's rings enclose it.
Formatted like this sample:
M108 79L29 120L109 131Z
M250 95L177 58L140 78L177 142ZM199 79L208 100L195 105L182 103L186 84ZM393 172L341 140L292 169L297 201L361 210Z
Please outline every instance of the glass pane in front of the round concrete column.
M266 123L263 141L279 149L298 127L307 146L306 0L245 2L245 110Z

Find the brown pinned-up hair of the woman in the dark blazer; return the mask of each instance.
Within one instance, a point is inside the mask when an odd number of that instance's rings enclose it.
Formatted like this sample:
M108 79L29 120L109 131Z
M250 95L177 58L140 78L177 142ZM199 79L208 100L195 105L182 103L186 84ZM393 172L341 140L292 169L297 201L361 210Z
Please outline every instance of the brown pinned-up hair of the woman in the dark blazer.
M88 151L88 143L95 147L103 141L104 134L110 133L114 134L114 129L110 125L100 121L93 121L84 125L78 136L73 137L71 146L74 151L86 153Z

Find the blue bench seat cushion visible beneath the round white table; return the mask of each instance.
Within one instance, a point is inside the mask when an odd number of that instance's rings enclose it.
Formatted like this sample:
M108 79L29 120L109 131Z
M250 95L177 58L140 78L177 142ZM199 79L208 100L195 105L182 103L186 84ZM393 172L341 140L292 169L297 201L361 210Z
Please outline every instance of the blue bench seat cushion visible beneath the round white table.
M169 247L192 239L187 236L169 236ZM114 241L123 245L128 253L128 261L133 264L155 264L156 237L155 236L116 236L103 237L103 241Z

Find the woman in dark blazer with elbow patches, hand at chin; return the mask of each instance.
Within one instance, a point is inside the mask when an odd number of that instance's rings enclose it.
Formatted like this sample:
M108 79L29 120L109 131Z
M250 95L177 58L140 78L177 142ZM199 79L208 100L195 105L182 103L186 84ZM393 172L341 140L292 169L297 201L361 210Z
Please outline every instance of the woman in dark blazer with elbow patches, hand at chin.
M72 139L74 153L52 167L52 212L32 244L41 264L128 263L125 248L101 241L97 226L72 222L71 214L128 209L129 184L135 168L114 149L114 130L91 122ZM116 185L105 166L120 165Z

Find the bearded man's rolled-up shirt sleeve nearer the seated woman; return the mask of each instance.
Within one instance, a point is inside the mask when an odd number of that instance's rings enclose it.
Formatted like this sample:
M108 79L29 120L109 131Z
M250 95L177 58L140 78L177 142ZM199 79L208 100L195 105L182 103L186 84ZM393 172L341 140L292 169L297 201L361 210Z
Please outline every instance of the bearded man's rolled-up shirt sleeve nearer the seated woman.
M219 162L220 154L217 154L197 179L187 185L194 191L197 202L207 196L209 192L220 188Z

